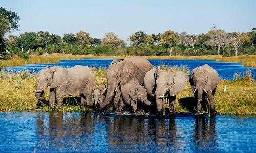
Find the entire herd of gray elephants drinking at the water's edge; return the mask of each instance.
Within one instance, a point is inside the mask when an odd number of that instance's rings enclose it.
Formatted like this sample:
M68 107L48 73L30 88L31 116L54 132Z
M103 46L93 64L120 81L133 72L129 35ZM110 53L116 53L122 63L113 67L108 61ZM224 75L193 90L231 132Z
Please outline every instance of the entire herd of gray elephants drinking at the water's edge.
M60 66L45 67L38 74L35 96L44 99L44 90L50 86L49 106L63 105L63 96L81 96L81 107L93 106L96 111L113 105L115 111L123 111L126 106L136 112L138 106L156 110L165 115L165 104L169 100L169 113L175 109L176 95L187 86L187 75L182 71L161 70L143 56L113 60L107 70L107 85L94 89L95 76L91 68L76 65L72 68ZM189 83L197 99L197 114L202 113L201 102L209 99L209 110L215 115L214 95L220 77L216 70L205 64L193 69ZM112 102L112 103L111 103Z

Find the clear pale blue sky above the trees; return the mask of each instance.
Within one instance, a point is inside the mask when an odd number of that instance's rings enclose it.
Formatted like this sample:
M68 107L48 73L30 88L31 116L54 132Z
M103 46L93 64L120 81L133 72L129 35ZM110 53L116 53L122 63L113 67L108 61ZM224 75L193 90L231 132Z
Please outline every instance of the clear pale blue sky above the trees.
M120 38L139 30L147 34L167 29L191 34L206 33L216 25L227 32L247 32L256 27L256 1L14 1L0 6L20 16L19 35L25 31L49 31L60 35L87 31L103 38L109 31ZM8 35L10 35L8 34Z

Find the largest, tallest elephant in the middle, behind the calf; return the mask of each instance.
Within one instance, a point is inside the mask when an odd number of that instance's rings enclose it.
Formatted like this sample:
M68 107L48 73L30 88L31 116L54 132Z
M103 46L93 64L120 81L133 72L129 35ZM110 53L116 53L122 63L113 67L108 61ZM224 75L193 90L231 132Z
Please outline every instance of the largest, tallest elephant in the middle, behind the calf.
M137 81L139 84L143 83L145 74L152 68L151 63L142 56L112 61L106 74L108 81L106 98L99 109L103 109L114 97L114 109L117 110L119 100L120 105L123 105L120 99L121 87L130 80Z

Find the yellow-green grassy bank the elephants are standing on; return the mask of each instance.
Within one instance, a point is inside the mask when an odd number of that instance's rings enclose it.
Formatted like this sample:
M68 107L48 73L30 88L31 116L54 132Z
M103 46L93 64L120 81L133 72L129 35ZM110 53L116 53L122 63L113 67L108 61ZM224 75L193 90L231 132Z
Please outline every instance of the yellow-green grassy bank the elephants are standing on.
M189 72L186 66L168 67L161 65L165 70L182 70ZM106 69L92 68L95 74L95 87L106 84ZM237 74L235 80L221 80L215 95L216 109L221 114L256 114L256 82L250 72L245 77ZM45 104L38 107L37 99L33 90L37 85L37 75L28 71L6 72L0 71L0 112L1 111L23 111L41 110L55 111L48 108ZM227 90L223 89L227 85ZM49 87L45 91L45 98L49 97ZM79 107L79 97L65 97L65 105L59 108L60 111L81 111ZM189 82L186 88L181 91L176 98L176 112L188 112L195 110L195 100L190 91Z

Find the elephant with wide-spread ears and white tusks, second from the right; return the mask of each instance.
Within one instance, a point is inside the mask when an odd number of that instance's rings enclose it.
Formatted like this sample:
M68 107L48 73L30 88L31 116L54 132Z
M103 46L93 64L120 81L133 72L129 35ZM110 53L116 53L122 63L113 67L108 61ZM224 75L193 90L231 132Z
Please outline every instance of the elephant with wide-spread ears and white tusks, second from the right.
M187 85L187 75L182 71L164 71L160 67L148 71L144 86L148 95L156 98L159 115L165 115L165 103L170 99L170 113L174 113L176 95Z

